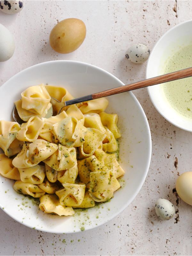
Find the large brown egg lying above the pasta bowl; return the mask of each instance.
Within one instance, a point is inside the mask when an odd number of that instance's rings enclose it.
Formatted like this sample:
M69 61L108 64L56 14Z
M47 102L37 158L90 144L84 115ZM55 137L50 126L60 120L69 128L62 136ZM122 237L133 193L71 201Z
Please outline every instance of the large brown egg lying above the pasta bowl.
M69 18L61 20L52 29L49 42L53 50L59 53L75 51L83 43L86 27L82 20Z

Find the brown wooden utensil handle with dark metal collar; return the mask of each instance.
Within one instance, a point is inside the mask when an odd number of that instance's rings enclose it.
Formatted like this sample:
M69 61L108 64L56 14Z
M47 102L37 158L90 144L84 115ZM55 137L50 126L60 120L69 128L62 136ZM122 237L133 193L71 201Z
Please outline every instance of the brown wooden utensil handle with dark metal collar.
M83 102L83 101L99 99L102 97L118 94L121 92L128 92L128 91L140 89L140 88L155 85L155 84L162 84L162 83L166 83L166 82L170 82L170 81L174 81L174 80L178 80L178 79L182 79L182 78L186 78L186 77L190 77L190 76L192 76L192 68L185 68L185 69L175 71L172 73L168 73L165 75L155 76L155 77L152 77L152 78L149 78L146 80L142 80L142 81L139 81L139 82L136 82L133 84L127 84L127 85L112 88L112 89L109 89L109 90L106 90L103 92L96 92L96 93L93 93L93 94L90 94L90 95L87 95L84 97L80 97L80 98L73 99L73 100L68 100L65 102L65 106L77 104L77 103Z

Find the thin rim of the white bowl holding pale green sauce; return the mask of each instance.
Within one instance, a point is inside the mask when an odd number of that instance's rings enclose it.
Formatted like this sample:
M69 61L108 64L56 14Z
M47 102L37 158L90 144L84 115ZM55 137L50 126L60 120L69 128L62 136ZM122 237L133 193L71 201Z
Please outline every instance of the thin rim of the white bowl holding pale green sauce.
M149 72L149 62L150 62L152 53L155 51L155 49L156 49L157 45L159 44L159 42L160 42L167 34L169 34L172 30L174 30L175 28L178 28L178 27L184 25L185 23L190 23L190 22L192 22L192 19L191 19L191 20L183 21L183 22L181 22L181 23L175 25L174 27L172 27L172 28L170 28L169 30L167 30L167 31L157 40L157 42L155 43L155 45L153 46L153 48L152 48L152 50L151 50L151 53L150 53L149 58L148 58L148 61L147 61L146 72L145 72L145 77L146 77L146 79L151 78L151 77L148 75L148 72ZM182 129L182 130L184 130L184 131L187 131L187 132L192 132L192 129L185 128L185 127L183 127L182 125L177 124L177 123L174 122L174 121L171 121L171 120L169 119L169 117L167 117L166 115L164 115L164 114L161 112L161 110L156 106L156 104L155 104L155 102L154 102L154 100L153 100L153 96L152 96L152 94L151 94L151 88L150 88L150 87L151 87L151 86L148 86L148 87L147 87L148 95L149 95L149 98L150 98L151 102L153 103L153 106L156 108L156 110L159 112L159 114L160 114L161 116L163 116L169 123L175 125L176 127L180 128L180 129ZM179 117L179 115L178 115L178 117Z

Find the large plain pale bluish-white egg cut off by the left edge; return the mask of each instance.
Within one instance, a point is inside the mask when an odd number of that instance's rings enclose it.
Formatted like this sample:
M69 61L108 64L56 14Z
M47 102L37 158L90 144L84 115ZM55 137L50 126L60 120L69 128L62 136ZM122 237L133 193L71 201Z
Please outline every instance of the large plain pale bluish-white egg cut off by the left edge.
M15 50L15 43L10 31L0 24L0 62L9 60Z

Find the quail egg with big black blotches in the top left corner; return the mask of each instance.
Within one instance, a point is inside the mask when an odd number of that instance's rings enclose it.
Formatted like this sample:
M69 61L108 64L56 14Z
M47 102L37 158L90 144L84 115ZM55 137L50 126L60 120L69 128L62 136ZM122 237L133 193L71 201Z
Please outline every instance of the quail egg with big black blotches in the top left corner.
M15 14L23 9L23 1L0 0L0 10L7 14Z

